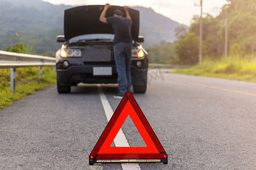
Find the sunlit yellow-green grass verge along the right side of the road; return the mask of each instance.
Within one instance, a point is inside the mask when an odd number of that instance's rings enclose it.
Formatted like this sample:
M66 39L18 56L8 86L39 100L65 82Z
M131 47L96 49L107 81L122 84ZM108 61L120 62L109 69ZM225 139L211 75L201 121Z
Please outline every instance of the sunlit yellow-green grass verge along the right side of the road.
M256 58L229 56L228 59L204 59L201 65L176 69L172 73L256 82Z

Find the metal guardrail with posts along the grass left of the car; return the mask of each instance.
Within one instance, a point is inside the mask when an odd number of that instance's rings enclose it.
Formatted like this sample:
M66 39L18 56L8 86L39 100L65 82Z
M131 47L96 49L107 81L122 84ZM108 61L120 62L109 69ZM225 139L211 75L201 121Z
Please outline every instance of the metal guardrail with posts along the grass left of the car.
M15 91L16 67L39 66L39 77L42 76L42 66L53 66L55 69L55 58L43 57L31 54L5 52L0 50L0 69L11 68L11 90Z

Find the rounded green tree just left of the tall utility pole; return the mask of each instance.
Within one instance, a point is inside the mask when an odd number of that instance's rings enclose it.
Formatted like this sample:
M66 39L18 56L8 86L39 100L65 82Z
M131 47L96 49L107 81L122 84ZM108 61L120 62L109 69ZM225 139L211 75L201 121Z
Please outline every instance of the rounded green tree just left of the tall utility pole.
M182 39L177 41L175 45L175 53L181 64L194 65L199 61L199 37L195 32L189 32ZM207 53L203 43L203 55Z

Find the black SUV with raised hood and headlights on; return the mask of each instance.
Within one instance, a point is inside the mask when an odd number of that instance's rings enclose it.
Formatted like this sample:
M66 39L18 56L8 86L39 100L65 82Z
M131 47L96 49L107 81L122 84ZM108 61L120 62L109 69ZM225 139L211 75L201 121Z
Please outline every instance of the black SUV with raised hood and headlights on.
M56 52L57 91L69 93L77 83L118 83L115 70L111 24L99 21L103 5L79 6L65 10L64 36L57 36L57 42L64 42ZM106 17L123 7L112 6ZM144 93L147 88L148 58L139 36L139 11L129 9L133 25L133 51L131 59L131 82L135 93Z

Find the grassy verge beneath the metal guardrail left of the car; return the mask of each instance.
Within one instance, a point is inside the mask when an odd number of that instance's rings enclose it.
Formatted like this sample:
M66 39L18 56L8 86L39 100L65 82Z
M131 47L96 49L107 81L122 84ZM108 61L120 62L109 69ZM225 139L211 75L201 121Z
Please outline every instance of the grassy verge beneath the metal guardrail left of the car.
M43 66L42 70L43 76L39 78L38 67L16 68L15 92L10 92L10 69L0 69L0 110L56 83L52 66Z

